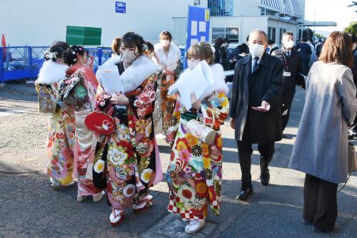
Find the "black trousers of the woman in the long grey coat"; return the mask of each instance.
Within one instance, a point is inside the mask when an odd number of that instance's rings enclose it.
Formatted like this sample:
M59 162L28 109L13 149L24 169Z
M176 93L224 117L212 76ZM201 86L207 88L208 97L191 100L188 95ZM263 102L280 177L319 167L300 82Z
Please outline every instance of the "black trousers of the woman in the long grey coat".
M303 218L328 232L337 218L337 184L306 174L303 187Z

